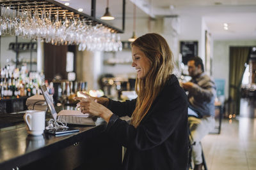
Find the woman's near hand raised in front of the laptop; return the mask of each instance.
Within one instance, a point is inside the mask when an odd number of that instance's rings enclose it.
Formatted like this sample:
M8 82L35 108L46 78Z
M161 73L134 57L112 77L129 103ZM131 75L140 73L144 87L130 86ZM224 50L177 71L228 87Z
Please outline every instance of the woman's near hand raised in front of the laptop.
M109 118L113 113L102 104L97 103L97 97L92 97L85 93L83 93L83 96L75 98L80 101L77 103L77 109L80 109L82 113L90 113L96 117L102 117L106 122L109 122Z

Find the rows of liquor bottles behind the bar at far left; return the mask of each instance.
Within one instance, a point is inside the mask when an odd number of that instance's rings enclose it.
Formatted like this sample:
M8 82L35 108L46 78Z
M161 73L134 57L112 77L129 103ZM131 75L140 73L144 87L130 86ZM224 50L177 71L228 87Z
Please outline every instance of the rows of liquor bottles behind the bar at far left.
M40 85L44 83L44 74L30 72L26 66L21 69L13 66L1 68L0 98L15 99L40 94Z

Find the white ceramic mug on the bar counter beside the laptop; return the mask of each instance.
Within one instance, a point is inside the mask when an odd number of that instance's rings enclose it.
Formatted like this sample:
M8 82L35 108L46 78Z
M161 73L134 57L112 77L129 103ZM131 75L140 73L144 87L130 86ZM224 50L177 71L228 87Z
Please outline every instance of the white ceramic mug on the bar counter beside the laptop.
M45 111L27 110L23 118L27 125L28 134L38 136L44 133Z

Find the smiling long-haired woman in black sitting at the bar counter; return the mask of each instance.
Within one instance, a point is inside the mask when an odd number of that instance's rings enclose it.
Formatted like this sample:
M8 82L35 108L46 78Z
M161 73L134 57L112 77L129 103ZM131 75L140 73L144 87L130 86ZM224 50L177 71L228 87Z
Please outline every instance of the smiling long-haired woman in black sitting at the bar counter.
M103 97L77 97L83 113L102 117L106 131L127 148L123 169L186 169L188 101L173 71L173 55L159 34L132 43L137 71L137 99L118 102ZM118 117L128 115L131 124Z

